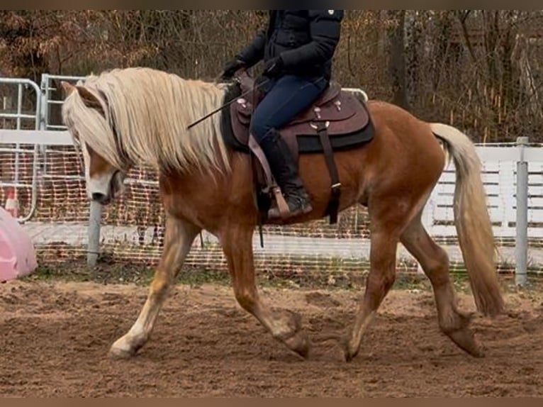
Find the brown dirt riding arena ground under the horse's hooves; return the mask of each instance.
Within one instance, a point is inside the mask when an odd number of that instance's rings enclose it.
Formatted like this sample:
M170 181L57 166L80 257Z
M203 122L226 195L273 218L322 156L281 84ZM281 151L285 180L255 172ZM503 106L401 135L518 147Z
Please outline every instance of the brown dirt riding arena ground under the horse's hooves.
M476 318L487 357L471 359L438 328L432 294L392 291L351 364L327 335L350 325L354 291L265 289L303 314L313 356L275 342L220 285L180 285L155 335L129 362L108 359L135 320L135 285L0 285L1 396L543 396L543 297L508 294L508 316ZM471 297L461 295L464 309Z

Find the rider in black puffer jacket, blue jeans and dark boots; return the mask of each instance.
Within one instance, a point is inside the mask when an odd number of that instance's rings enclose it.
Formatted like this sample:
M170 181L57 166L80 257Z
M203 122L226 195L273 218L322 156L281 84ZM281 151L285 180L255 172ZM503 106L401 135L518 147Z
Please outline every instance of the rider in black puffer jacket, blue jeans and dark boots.
M257 82L264 97L254 110L250 130L267 157L291 216L313 208L278 130L328 87L343 15L343 10L270 10L267 30L260 30L222 74L223 79L231 79L238 69L264 60ZM279 218L279 209L271 208L268 216Z

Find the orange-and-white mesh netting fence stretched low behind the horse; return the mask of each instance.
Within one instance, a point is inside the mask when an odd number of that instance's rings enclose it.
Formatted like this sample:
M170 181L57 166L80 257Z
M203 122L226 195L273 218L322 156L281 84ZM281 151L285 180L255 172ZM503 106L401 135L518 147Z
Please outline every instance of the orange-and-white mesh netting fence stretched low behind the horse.
M33 218L24 227L32 236L42 262L82 259L86 256L89 242L89 202L82 157L73 147L47 147L46 152L47 166L45 171L41 170L38 174L38 200ZM13 171L14 153L4 152L1 157L6 164L4 168L8 172ZM21 182L30 183L34 167L33 153L29 150L20 157ZM499 189L514 191L513 175L505 179L508 183L500 185ZM530 215L530 225L543 228L543 207L537 206L543 201L543 170L539 168L532 172L532 177L530 205L534 212ZM489 181L496 179L491 176ZM7 190L0 189L2 202L6 200ZM491 196L493 189L488 191ZM444 192L447 196L447 191ZM28 211L32 204L31 196L30 189L19 189L20 211ZM452 196L448 196L449 204L452 204ZM514 210L514 199L510 206ZM152 169L133 169L128 175L125 194L115 204L103 209L101 223L102 258L156 264L164 236L164 211L159 202L157 174ZM515 228L511 230L510 235L497 234L496 238L501 255L499 269L504 273L515 271ZM337 225L330 225L323 219L300 225L267 226L264 227L264 248L260 247L259 235L255 233L254 236L257 271L287 277L310 272L320 279L327 279L330 275L337 278L337 275L365 274L369 266L369 235L368 214L362 207L342 213ZM454 228L436 235L436 238L449 252L453 272L464 272ZM529 242L529 271L541 274L543 239L532 236ZM203 233L201 239L194 243L187 264L201 269L226 270L218 241L207 233ZM403 247L398 249L398 270L418 272L418 264Z

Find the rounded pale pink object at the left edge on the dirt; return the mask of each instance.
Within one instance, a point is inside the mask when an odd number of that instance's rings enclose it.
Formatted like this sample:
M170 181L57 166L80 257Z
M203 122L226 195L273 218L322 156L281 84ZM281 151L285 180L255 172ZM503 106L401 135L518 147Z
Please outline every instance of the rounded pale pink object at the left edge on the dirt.
M26 276L36 267L38 262L30 236L0 206L0 282Z

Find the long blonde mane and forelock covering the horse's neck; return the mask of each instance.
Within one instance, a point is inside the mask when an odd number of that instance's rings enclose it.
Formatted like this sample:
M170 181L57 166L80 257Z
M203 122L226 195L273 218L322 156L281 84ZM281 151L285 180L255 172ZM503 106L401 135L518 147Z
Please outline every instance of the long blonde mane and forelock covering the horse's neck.
M84 87L98 99L106 118L85 106L79 92L66 98L62 117L72 135L77 132L77 138L111 165L123 169L128 160L181 172L229 169L220 113L186 130L223 104L223 85L128 68L91 75Z

